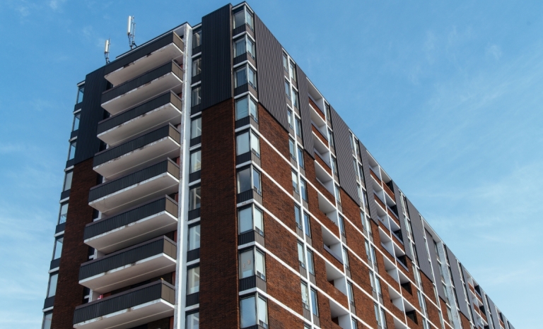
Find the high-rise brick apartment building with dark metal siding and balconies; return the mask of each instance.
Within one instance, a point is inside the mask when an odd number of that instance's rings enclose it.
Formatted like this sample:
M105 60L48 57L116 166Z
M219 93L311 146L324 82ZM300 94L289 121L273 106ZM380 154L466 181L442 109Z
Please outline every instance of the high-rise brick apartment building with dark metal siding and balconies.
M245 2L73 115L44 329L514 329Z

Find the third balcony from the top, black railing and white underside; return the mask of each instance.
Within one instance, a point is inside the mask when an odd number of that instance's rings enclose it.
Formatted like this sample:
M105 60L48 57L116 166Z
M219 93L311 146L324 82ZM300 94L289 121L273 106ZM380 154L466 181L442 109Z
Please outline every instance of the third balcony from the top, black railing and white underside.
M173 92L164 94L132 109L100 121L96 133L107 145L115 146L140 133L166 123L181 123L182 103Z

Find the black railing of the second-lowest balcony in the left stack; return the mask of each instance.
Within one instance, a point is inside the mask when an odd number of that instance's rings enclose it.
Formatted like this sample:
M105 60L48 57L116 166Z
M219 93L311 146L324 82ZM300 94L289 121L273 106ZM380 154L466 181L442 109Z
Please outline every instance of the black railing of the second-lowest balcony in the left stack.
M176 249L177 244L167 237L158 237L141 244L136 244L127 249L122 249L81 264L81 268L79 268L79 280L85 280L94 275L136 263L145 258L159 255L160 253L165 253L171 258L177 259Z

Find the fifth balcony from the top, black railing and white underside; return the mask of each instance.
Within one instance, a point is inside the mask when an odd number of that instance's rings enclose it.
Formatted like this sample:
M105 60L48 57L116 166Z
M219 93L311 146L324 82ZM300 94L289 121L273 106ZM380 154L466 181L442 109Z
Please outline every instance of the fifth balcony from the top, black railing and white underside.
M109 215L178 190L179 167L168 159L94 186L88 195L88 205Z

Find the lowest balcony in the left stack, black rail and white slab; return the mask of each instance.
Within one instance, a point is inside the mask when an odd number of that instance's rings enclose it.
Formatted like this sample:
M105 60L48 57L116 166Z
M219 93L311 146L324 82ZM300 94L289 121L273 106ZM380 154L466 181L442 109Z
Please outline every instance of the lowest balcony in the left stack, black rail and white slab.
M134 328L173 316L175 287L163 280L76 307L74 328Z

